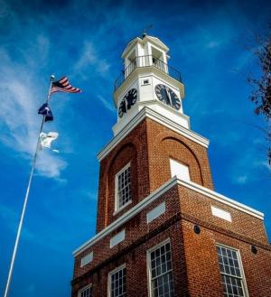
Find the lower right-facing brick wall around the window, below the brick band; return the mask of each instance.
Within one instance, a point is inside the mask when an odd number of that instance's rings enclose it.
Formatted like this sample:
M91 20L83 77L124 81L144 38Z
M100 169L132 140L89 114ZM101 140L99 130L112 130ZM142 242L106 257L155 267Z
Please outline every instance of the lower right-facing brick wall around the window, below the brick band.
M240 251L250 297L271 296L270 248L257 247L257 255L250 244L201 227L201 234L192 232L193 224L182 220L188 287L191 297L223 296L216 245L222 244Z

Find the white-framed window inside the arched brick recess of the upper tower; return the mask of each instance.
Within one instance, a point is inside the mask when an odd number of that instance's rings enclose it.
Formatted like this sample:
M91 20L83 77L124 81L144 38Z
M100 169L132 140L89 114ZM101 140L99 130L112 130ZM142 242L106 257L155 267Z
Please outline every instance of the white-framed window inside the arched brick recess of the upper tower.
M128 163L116 174L116 206L115 210L122 209L131 201L131 170Z

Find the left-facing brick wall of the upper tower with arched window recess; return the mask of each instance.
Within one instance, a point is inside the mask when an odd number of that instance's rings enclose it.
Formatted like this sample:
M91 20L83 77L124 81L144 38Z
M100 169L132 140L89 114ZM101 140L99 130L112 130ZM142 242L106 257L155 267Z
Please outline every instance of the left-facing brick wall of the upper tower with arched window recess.
M132 208L150 193L148 172L148 151L146 123L137 125L117 146L100 162L98 187L97 232L107 227L113 220ZM132 203L116 216L115 176L127 162L131 161Z

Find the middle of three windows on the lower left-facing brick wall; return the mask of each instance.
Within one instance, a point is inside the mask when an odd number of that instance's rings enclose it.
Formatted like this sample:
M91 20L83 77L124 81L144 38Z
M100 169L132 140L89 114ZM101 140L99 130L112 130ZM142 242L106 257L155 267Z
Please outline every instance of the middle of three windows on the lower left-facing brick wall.
M126 297L126 266L113 270L108 277L109 297Z

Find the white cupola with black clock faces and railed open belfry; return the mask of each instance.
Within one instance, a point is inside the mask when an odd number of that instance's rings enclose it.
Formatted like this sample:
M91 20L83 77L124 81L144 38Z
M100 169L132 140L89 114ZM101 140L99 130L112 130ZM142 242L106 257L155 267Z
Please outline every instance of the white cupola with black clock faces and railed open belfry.
M158 38L136 37L126 46L121 57L124 70L115 82L114 102L117 107L117 135L143 108L189 128L189 117L183 115L184 86L181 73L168 65L169 48Z

